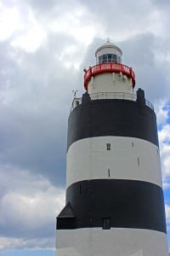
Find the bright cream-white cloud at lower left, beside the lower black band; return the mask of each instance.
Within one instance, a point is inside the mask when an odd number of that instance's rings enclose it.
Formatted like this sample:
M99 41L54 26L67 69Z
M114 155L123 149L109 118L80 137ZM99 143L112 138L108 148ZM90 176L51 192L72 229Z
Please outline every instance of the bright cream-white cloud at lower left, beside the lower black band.
M31 187L32 184L29 185ZM43 192L35 191L33 195L26 194L6 192L0 203L0 226L7 227L10 224L11 229L20 226L23 232L42 230L44 225L48 227L54 222L57 212L64 205L64 193L59 189L49 188Z

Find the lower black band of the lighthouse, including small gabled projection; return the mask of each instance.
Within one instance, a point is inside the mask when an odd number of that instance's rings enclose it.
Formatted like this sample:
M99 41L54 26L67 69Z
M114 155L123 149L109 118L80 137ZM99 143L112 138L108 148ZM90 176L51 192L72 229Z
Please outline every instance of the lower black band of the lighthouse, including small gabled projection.
M66 204L57 218L58 230L102 227L102 219L110 218L115 228L167 232L163 192L153 183L119 179L77 182L67 189Z

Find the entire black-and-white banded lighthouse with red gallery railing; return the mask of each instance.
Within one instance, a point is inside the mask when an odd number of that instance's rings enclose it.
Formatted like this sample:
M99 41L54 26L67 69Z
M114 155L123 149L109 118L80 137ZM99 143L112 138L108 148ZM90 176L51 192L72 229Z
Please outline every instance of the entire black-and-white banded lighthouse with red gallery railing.
M72 102L57 256L167 256L156 114L109 41Z

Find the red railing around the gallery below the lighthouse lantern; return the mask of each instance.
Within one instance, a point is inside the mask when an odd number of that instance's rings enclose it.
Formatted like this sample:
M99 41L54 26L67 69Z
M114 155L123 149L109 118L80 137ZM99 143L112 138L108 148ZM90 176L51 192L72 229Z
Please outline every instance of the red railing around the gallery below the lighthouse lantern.
M126 75L127 78L132 79L133 88L134 88L135 74L133 72L132 67L127 67L120 63L112 63L112 62L101 63L101 64L95 65L94 67L89 67L84 74L84 88L88 90L88 82L91 79L91 77L99 73L109 73L109 72L122 73Z

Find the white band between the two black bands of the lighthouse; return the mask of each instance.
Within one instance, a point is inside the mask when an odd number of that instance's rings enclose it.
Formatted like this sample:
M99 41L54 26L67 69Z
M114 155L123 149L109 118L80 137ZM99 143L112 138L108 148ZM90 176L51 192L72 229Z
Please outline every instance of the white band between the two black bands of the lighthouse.
M122 147L123 145L123 147ZM66 187L81 180L140 180L161 187L159 149L135 137L90 137L67 152Z

